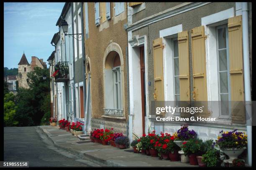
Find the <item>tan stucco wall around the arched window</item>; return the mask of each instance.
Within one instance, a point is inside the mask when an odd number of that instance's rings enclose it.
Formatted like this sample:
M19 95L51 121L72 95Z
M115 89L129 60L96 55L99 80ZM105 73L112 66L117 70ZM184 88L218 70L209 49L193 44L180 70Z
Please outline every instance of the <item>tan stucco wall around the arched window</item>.
M127 4L125 3L125 12L118 16L114 16L114 2L110 3L111 20L107 23L101 23L100 26L95 25L95 10L94 2L88 2L88 18L89 18L89 38L85 40L85 55L90 57L91 68L91 93L92 93L92 118L100 118L103 115L104 108L104 82L103 82L103 58L110 43L117 43L122 50L123 55L123 72L124 72L124 111L125 120L128 121L128 93L127 93L127 62L126 62L126 47L127 47L127 32L123 25L127 23ZM85 17L84 17L85 18ZM85 19L84 19L85 28ZM84 31L85 32L85 31ZM113 119L105 118L105 120L114 121Z

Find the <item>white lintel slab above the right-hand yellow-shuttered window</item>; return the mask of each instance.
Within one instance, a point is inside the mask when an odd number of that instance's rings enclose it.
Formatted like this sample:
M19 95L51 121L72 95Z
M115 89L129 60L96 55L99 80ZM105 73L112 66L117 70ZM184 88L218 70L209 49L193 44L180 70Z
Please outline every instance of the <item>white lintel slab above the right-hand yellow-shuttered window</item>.
M229 8L228 10L223 10L212 15L208 15L201 19L202 25L209 25L212 23L217 23L222 20L226 20L234 16L234 8Z

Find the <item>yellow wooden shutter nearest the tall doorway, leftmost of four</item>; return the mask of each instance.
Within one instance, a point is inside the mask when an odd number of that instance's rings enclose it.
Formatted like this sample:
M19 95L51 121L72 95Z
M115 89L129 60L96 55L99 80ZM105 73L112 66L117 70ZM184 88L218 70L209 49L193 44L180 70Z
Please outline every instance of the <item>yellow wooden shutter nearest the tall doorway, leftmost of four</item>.
M164 107L164 73L163 73L163 44L162 38L153 41L154 47L154 99L155 107ZM164 117L165 113L159 116Z

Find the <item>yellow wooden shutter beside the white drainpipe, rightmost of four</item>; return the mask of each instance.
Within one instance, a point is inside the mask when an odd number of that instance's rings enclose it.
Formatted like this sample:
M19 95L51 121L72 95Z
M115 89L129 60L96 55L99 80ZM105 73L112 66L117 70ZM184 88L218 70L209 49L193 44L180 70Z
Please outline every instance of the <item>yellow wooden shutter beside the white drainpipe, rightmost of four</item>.
M228 43L231 101L244 101L242 15L228 19ZM231 108L232 122L245 123L243 102L232 102Z

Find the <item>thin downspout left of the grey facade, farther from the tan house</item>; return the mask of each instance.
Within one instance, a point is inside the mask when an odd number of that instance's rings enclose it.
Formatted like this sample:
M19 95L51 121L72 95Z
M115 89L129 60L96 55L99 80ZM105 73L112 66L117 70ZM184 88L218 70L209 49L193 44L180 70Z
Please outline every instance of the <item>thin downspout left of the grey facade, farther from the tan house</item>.
M72 3L72 34L74 33L74 16L73 16L73 2ZM74 101L74 120L77 117L77 104L76 104L76 87L75 87L75 64L74 64L74 38L73 38L73 43L72 43L72 49L73 49L73 101ZM76 121L76 120L75 120Z

